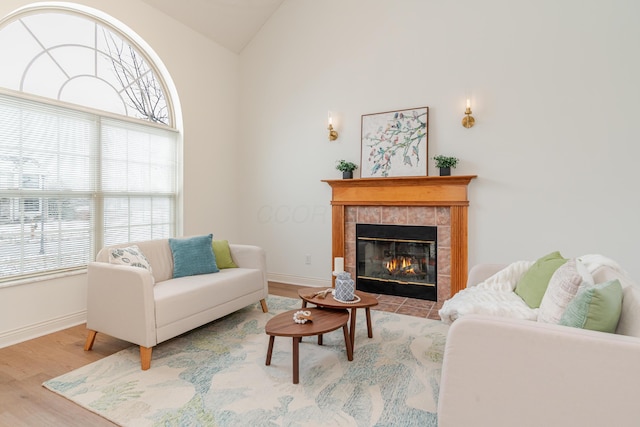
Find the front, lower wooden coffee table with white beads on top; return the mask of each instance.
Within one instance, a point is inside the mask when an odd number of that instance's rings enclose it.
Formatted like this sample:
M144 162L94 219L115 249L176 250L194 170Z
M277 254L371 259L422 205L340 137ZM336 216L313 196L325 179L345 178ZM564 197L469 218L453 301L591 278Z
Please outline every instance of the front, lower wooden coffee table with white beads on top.
M323 308L308 308L313 320L304 324L295 323L293 314L299 310L289 310L274 316L264 327L269 335L269 349L267 350L266 365L271 364L271 353L273 352L273 341L275 337L293 338L293 383L299 382L299 346L302 337L318 336L318 345L322 345L322 334L335 331L342 327L344 333L344 344L347 348L347 359L353 360L353 350L351 339L347 329L349 312L347 310L334 310Z

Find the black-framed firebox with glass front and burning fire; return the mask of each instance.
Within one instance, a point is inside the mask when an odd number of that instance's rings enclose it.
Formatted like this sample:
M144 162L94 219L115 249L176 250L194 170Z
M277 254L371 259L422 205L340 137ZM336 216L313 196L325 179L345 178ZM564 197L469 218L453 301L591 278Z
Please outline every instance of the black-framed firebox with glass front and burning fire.
M437 301L438 228L356 224L356 289Z

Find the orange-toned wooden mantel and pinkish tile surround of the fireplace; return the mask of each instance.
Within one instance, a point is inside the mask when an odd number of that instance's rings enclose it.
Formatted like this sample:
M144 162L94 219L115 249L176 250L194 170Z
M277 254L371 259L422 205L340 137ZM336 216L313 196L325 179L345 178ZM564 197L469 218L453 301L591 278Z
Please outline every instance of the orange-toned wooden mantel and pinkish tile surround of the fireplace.
M356 223L438 227L438 303L466 286L467 186L475 175L326 180L332 253L355 277Z

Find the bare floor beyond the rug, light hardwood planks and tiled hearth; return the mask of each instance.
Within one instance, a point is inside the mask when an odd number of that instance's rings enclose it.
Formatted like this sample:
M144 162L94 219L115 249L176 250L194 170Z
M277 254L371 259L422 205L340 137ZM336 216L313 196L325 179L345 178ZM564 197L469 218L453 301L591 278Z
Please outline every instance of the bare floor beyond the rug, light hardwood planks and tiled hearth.
M269 293L273 295L297 298L297 289L281 283L269 284ZM380 304L374 309L384 311L433 318L432 312L437 316L439 308L430 301L377 297ZM42 387L46 380L132 345L98 334L93 350L84 351L86 337L85 326L79 325L0 349L0 426L115 425Z

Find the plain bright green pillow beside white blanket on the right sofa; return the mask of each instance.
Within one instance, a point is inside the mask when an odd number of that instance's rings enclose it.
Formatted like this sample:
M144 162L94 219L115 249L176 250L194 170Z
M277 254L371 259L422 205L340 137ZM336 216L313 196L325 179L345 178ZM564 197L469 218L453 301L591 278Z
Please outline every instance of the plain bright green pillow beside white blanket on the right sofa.
M568 260L560 252L552 252L535 262L516 284L515 293L531 308L540 307L553 273Z

